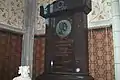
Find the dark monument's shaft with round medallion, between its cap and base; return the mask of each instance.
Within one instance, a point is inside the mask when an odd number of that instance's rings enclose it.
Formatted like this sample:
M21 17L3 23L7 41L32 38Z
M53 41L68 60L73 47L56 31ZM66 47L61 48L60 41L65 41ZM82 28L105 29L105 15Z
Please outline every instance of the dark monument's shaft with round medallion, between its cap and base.
M88 74L86 14L50 18L46 31L46 70ZM52 62L52 64L51 64Z

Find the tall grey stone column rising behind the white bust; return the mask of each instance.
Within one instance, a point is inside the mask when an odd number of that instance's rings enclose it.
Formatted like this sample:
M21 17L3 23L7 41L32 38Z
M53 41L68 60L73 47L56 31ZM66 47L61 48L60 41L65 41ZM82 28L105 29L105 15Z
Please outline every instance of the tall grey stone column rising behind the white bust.
M36 0L24 0L24 1L25 1L25 14L24 14L25 33L23 35L22 41L23 43L21 65L30 66L30 76L32 77Z

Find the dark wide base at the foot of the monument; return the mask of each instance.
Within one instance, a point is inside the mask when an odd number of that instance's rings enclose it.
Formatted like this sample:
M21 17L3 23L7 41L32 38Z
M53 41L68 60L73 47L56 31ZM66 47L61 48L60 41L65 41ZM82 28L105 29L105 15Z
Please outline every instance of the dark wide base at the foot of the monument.
M94 80L92 76L81 73L48 73L40 75L36 80Z

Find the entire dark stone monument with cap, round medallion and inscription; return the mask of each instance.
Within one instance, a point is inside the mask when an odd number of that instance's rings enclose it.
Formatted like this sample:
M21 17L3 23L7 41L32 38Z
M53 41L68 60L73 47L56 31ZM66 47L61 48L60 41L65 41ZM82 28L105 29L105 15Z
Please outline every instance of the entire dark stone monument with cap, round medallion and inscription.
M88 68L87 14L90 0L57 0L41 6L46 28L45 72L41 80L93 80Z

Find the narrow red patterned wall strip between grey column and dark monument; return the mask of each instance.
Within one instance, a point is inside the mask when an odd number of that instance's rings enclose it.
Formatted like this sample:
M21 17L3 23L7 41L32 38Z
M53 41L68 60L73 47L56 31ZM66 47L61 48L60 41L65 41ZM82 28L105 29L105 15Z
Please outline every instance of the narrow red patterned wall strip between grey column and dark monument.
M36 77L44 72L44 37L35 37L34 40L34 60L33 76Z

